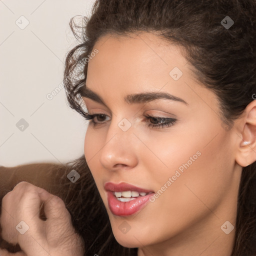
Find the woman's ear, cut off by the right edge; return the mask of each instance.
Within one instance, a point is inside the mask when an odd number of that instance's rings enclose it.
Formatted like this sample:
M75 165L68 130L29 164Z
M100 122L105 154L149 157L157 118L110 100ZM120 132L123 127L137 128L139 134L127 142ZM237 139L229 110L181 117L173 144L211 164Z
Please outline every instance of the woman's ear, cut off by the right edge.
M235 155L236 162L247 166L256 161L256 100L251 101L239 121L241 127L238 139L238 150Z

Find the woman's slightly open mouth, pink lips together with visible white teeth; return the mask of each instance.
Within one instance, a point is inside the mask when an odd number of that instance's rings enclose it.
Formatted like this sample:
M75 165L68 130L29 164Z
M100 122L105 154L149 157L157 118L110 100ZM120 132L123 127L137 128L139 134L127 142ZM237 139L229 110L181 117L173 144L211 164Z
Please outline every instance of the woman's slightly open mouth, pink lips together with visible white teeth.
M152 190L140 188L125 182L106 182L108 207L114 215L127 216L142 209L149 201Z

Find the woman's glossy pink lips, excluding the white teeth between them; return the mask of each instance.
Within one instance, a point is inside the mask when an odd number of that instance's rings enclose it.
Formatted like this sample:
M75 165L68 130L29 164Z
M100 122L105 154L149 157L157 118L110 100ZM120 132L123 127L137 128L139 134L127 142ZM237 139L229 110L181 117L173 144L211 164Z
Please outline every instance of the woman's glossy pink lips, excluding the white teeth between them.
M153 195L152 190L133 186L125 182L121 182L119 184L106 182L104 184L104 188L107 191L108 207L114 215L118 215L118 216L128 216L128 215L134 214L138 210L141 210L149 201L150 196ZM146 194L144 196L139 195L138 197L133 197L135 199L127 202L119 201L114 195L114 191L122 192L122 191L128 191L128 190L145 192L149 194Z

